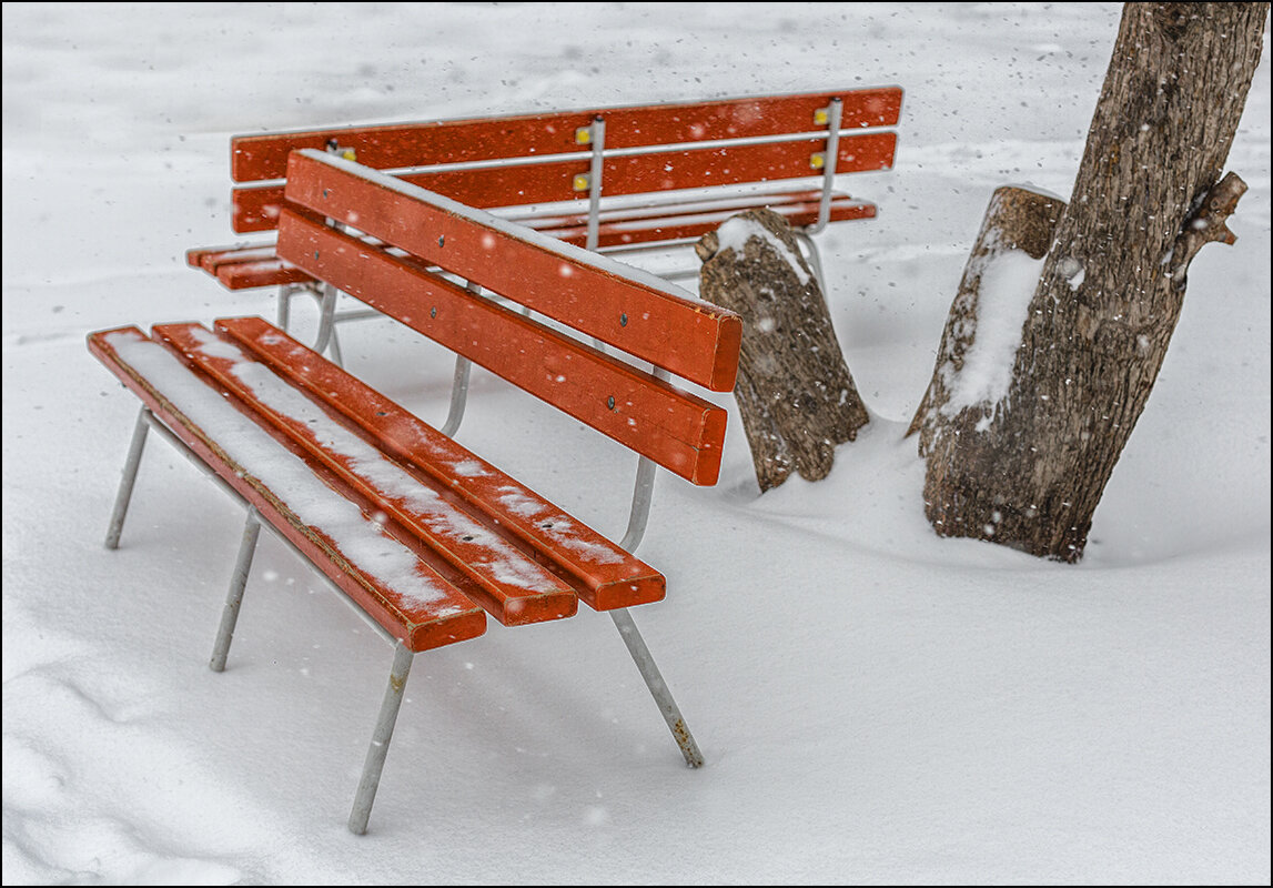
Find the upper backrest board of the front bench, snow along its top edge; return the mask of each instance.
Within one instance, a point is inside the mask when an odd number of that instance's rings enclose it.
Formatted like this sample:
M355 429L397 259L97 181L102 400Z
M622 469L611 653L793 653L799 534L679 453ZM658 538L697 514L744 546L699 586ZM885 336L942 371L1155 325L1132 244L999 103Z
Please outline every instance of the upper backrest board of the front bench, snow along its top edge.
M320 152L293 155L288 195L691 382L733 389L738 316L694 301L652 274ZM289 252L281 236L278 250L316 274L312 250ZM677 336L670 340L667 330Z

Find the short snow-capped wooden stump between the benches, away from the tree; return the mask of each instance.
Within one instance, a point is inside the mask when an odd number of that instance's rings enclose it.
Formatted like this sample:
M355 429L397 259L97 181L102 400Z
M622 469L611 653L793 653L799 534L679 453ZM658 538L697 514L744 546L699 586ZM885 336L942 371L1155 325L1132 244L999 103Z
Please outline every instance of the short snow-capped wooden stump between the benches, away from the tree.
M836 445L869 419L817 278L771 210L728 219L695 245L700 296L742 317L735 399L761 492L792 471L826 478Z

